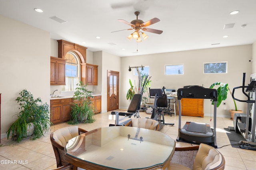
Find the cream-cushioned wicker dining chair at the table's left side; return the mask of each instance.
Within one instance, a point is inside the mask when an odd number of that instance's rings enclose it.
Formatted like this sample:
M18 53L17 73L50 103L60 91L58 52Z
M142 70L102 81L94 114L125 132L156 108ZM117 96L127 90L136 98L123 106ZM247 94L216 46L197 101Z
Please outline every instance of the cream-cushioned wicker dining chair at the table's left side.
M57 168L69 164L69 162L66 162L65 160L64 151L64 147L68 143L68 140L86 132L86 130L81 129L78 126L70 126L58 129L51 133L50 141L56 157ZM73 169L73 166L71 169Z

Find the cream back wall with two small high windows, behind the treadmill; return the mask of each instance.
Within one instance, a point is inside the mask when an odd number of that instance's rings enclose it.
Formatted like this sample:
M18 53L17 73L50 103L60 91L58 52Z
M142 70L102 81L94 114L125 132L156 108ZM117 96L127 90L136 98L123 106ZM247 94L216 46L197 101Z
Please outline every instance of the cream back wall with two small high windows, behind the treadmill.
M181 51L173 53L161 53L152 55L141 55L134 57L121 58L121 76L120 79L120 108L127 108L130 100L126 100L126 92L130 88L129 78L138 83L138 76L129 72L129 66L149 66L151 88L178 89L187 85L200 85L206 88L214 82L228 83L230 89L236 86L242 86L242 73L246 72L246 82L250 81L252 74L252 45L240 45L234 47L221 47L212 49L201 49L192 51ZM203 74L203 63L208 62L228 62L228 73L226 74ZM184 64L184 75L165 75L166 64ZM136 84L138 86L138 84ZM244 98L238 93L237 98ZM234 108L234 102L229 95L226 100L226 109L223 105L218 107L219 117L229 117L229 109ZM246 104L237 102L238 109L246 111ZM204 102L204 115L210 115L210 101Z

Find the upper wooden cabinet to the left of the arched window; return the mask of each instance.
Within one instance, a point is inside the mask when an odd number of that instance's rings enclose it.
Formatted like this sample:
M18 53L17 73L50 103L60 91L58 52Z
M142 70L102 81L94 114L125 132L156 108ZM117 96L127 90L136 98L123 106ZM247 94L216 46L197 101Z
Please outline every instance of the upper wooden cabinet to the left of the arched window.
M50 85L65 85L66 84L66 60L56 57L51 57L50 62Z

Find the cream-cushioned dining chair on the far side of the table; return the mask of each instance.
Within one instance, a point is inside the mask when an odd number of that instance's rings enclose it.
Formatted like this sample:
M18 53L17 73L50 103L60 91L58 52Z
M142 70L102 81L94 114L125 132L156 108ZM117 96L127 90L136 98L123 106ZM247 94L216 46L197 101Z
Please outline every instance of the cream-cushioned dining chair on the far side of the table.
M159 123L154 119L149 118L134 118L126 123L125 126L132 126L132 127L139 127L144 129L151 129L158 131L159 130Z

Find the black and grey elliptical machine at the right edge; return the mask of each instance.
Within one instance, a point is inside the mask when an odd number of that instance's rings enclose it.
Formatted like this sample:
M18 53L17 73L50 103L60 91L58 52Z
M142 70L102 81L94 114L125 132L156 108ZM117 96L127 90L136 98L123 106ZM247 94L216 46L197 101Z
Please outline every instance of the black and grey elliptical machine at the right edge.
M235 113L233 119L234 127L228 127L230 130L241 133L246 141L240 141L239 145L242 149L256 150L255 140L255 128L256 128L256 109L255 109L255 97L256 97L256 81L252 80L248 86L245 86L245 75L243 73L243 85L235 87L232 92L232 98L238 102L247 103L247 113ZM235 90L242 88L243 94L247 100L239 100L234 97ZM246 92L252 93L252 97ZM251 108L251 109L250 109Z

